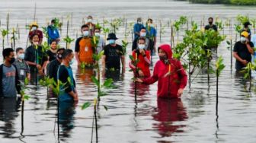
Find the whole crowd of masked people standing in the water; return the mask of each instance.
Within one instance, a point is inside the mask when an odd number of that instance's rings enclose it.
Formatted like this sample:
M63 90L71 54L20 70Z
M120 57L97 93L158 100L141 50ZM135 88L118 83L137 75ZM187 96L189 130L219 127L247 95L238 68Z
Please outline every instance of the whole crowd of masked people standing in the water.
M81 27L82 37L75 41L75 51L72 49L58 48L60 41L56 20L53 19L47 27L47 43L50 49L43 50L43 33L38 29L37 23L30 25L30 46L26 49L3 49L4 63L0 65L0 97L17 97L21 91L21 82L25 78L30 83L37 82L43 76L49 76L56 82L61 82L59 100L77 101L75 79L73 78L71 65L75 61L78 68L81 65L94 65L93 55L104 50L101 59L102 71L117 71L124 74L126 69L123 47L117 44L115 33L109 33L107 44L101 35L101 27L93 24L93 18L88 16L88 22ZM218 31L213 24L213 17L208 19L209 24L205 30ZM235 68L240 71L251 62L251 56L255 55L253 47L256 45L256 36L251 36L249 22L244 24L241 31L241 40L235 43L233 56L236 59ZM181 62L172 57L171 46L162 44L156 47L157 30L151 18L146 25L142 24L142 18L137 18L133 27L134 40L132 44L133 59L129 62L133 70L136 82L153 84L158 81L158 97L178 98L183 94L187 85L187 74ZM93 43L93 37L98 40L98 45ZM16 54L15 54L15 53ZM152 65L152 56L158 52L159 60L155 63L153 73L149 67ZM14 58L16 55L16 59ZM138 60L138 62L136 62Z

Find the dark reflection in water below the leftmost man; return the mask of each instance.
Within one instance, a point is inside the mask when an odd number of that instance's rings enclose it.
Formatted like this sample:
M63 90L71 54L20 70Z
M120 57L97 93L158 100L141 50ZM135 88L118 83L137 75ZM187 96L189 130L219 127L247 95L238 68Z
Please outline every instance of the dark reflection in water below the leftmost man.
M18 117L18 108L20 107L21 100L16 98L0 98L0 120L5 122L4 126L0 126L3 131L4 138L12 138L14 135L14 119Z

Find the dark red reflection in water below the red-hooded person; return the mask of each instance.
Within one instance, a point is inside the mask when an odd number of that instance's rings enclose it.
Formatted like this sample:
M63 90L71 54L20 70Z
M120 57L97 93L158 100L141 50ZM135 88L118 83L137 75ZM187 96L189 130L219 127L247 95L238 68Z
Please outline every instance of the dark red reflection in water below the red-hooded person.
M173 122L184 121L187 119L187 111L185 110L181 99L158 99L158 110L153 114L153 118L158 121L153 127L158 129L159 135L169 137L174 132L183 132L179 130L184 125L173 125Z

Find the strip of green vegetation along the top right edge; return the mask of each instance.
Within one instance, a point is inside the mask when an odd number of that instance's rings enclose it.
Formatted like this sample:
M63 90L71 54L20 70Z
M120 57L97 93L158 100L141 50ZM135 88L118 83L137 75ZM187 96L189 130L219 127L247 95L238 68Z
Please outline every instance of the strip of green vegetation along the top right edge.
M256 5L256 0L178 0L202 4Z

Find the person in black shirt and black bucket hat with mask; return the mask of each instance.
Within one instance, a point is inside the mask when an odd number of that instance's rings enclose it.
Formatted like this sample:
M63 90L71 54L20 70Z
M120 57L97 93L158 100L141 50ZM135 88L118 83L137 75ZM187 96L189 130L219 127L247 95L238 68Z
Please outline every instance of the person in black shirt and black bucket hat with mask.
M102 56L103 70L107 69L108 71L120 71L121 61L123 65L122 73L124 73L125 59L123 56L123 48L116 43L116 34L109 33L107 40L109 41L109 44L104 46L104 56Z

